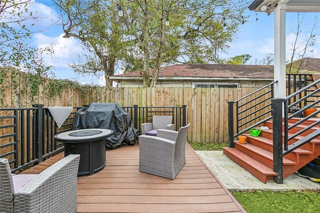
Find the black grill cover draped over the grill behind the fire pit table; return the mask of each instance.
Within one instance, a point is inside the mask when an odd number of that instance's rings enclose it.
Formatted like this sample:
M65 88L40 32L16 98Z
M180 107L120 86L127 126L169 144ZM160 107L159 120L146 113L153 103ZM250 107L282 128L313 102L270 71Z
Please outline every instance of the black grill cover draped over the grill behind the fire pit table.
M117 103L91 103L74 115L72 129L108 128L113 134L105 138L106 149L135 144L138 129L129 114Z

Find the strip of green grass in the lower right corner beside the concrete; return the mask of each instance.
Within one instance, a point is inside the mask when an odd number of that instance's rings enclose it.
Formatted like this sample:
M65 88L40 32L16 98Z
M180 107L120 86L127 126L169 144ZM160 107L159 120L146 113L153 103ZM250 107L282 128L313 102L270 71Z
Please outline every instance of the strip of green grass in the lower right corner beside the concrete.
M308 181L308 180L306 180ZM320 191L245 191L232 192L248 213L318 212Z

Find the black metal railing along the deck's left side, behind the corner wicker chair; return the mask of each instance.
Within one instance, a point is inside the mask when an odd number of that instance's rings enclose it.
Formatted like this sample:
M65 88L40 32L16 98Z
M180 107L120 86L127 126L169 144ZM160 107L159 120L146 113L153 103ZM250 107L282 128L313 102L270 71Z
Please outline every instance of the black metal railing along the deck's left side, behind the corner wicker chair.
M0 108L0 157L9 160L11 171L14 172L62 151L63 144L57 143L53 136L57 130L71 129L77 108L74 107L60 128L57 128L43 104L26 108Z

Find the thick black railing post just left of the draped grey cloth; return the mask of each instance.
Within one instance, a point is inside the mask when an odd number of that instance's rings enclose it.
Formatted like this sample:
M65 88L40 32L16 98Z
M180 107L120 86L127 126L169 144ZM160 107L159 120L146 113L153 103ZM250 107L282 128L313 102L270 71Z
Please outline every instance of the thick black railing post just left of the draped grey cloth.
M35 157L38 158L38 163L42 162L42 144L43 144L43 106L44 104L38 103L33 104L33 107L37 107L35 113L35 128L32 131L35 131Z

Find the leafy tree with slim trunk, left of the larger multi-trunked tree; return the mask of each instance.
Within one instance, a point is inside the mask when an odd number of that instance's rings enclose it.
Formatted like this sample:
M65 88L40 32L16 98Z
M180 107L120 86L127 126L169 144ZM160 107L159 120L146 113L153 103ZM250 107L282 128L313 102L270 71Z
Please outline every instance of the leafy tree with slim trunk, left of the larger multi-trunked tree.
M70 66L77 72L98 74L103 71L106 86L114 73L116 59L124 47L117 28L115 2L104 0L53 0L61 14L65 38L78 38L87 48L78 64Z

